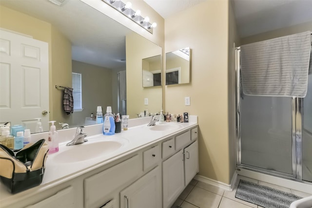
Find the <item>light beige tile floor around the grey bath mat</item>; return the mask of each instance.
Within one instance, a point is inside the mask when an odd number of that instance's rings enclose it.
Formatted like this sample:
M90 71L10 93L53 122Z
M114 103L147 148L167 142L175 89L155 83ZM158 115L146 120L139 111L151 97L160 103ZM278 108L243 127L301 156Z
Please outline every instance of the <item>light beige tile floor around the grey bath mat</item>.
M268 184L263 181L258 181L244 176L237 177L233 191L220 189L218 187L211 186L193 179L171 208L261 208L260 206L235 198L235 192L239 183L239 179L251 181L274 189L291 192L301 197L307 197L311 195L297 190Z

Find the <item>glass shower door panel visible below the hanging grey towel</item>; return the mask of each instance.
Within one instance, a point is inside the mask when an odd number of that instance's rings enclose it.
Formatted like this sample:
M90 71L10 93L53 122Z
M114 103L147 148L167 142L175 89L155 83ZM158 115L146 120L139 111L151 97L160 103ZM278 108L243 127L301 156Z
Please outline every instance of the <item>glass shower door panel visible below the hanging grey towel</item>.
M286 174L292 168L292 98L240 97L241 164Z

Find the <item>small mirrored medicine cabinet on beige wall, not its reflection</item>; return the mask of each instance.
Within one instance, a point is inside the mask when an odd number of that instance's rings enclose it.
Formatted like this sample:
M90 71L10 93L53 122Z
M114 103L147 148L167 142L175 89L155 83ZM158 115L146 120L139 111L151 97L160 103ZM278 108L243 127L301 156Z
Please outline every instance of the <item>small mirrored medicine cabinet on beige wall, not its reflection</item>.
M190 47L166 53L166 85L190 83Z

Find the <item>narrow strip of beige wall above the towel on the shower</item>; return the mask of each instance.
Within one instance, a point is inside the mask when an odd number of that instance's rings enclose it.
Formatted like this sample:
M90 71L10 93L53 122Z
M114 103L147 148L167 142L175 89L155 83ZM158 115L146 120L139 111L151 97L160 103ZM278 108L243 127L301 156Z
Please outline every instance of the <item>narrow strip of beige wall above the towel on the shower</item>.
M258 42L262 40L268 40L272 38L278 38L282 36L288 36L288 35L301 33L305 31L312 31L312 21L293 25L291 27L285 27L285 28L257 34L254 36L249 36L246 38L241 38L241 45Z

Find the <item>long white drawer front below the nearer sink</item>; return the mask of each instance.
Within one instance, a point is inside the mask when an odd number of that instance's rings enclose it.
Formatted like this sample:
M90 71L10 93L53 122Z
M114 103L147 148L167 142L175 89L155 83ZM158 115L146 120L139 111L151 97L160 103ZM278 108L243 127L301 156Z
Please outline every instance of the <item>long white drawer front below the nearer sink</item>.
M100 207L112 199L112 192L120 189L142 172L142 159L138 155L116 166L84 179L85 208Z

